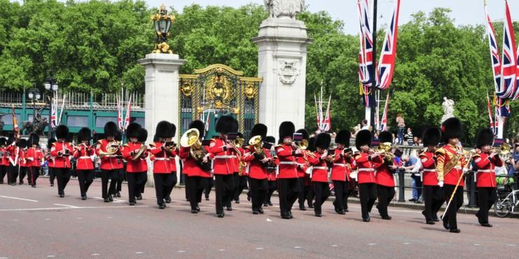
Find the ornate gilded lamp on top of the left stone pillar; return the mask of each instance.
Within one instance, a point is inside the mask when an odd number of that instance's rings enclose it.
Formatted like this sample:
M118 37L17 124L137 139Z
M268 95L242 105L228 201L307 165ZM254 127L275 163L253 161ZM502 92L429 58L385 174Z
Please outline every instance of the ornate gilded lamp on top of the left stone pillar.
M172 54L173 52L169 50L169 45L167 45L167 36L169 36L169 29L171 29L175 16L167 14L166 6L162 3L157 13L151 15L151 20L153 20L155 33L157 34L157 44L152 53Z

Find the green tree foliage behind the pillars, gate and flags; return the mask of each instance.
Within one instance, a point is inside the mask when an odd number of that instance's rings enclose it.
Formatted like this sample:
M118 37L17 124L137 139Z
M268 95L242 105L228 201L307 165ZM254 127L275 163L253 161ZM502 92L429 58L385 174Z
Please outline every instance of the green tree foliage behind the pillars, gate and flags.
M141 0L88 2L0 0L0 90L42 85L50 70L60 87L83 92L112 92L121 84L144 92L144 69L137 64L155 43L150 15L156 6ZM240 8L196 4L184 7L172 25L169 45L187 62L181 73L209 64L227 64L257 73L257 48L251 38L268 17L263 6ZM343 23L326 12L298 15L314 39L307 53L306 125L315 130L314 94L321 83L332 95L332 126L352 128L364 118L359 95L358 36L343 33ZM482 18L483 21L483 18ZM501 37L502 23L495 25ZM519 29L519 25L515 26ZM385 31L378 33L378 52ZM519 35L519 32L516 33ZM486 94L492 96L492 70L485 27L456 27L450 10L417 12L399 27L389 126L396 113L415 129L438 125L443 97L453 99L455 114L466 127L465 140L487 127ZM380 93L384 99L387 92ZM511 102L508 136L517 134L519 104Z

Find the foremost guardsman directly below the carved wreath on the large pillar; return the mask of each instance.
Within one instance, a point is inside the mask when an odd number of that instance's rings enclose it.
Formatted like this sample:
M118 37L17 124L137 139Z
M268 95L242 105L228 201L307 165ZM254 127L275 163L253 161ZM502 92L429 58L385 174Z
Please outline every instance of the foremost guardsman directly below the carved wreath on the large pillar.
M277 166L277 182L279 190L279 209L281 218L290 219L292 216L292 205L296 202L299 193L298 184L298 156L303 151L292 141L296 127L289 121L279 125L279 140L281 144L276 146L276 154L279 158Z

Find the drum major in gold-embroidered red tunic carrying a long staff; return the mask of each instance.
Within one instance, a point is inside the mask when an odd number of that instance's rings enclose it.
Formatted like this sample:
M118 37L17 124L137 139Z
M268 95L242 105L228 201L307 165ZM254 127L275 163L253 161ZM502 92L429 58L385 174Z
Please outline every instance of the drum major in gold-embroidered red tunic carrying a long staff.
M438 158L436 172L438 172L438 186L443 186L447 203L459 183L459 188L443 217L443 228L452 233L459 233L456 214L463 205L464 171L466 171L463 148L459 144L459 137L463 134L461 121L458 118L448 118L441 125L441 134L445 146L436 150Z

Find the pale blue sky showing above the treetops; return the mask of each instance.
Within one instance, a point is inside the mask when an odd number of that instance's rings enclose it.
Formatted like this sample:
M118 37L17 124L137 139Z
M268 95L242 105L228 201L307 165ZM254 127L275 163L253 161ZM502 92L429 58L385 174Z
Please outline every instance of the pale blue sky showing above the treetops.
M369 0L372 5L373 0ZM503 20L504 0L487 0L488 12L492 20ZM201 6L243 6L247 3L258 3L263 5L263 0L146 0L148 6L174 6L177 10L182 10L184 6L191 3L198 3ZM342 20L345 23L345 33L357 34L359 30L356 1L355 0L306 0L306 5L312 12L325 10L333 18ZM519 21L519 0L509 0L511 14L514 21ZM387 23L394 6L394 0L378 0L378 27ZM456 25L476 25L485 22L483 10L483 0L401 0L400 22L406 23L410 20L410 15L422 10L429 13L435 7L445 7L452 10L452 18L455 18ZM380 18L382 15L382 18Z

